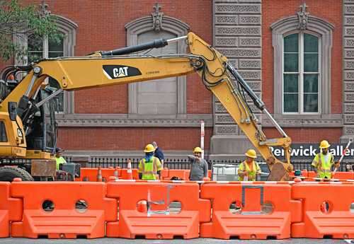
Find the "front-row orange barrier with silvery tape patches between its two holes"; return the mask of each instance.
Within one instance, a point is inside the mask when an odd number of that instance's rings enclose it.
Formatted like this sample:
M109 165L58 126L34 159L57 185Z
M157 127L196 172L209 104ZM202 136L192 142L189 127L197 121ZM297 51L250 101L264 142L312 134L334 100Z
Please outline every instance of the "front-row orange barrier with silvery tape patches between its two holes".
M210 201L199 199L196 182L108 182L107 196L119 200L119 221L107 223L107 236L120 238L198 238L199 223L210 221ZM147 201L147 211L137 207ZM169 209L181 202L181 211Z

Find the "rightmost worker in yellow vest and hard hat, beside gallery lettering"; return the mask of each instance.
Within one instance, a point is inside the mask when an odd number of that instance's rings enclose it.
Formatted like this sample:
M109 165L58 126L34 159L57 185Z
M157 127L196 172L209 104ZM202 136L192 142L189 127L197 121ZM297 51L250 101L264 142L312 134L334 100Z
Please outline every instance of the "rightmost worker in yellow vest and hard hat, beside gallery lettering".
M321 141L321 144L319 144L321 152L317 153L314 157L314 160L312 161L312 166L314 166L314 170L317 173L318 178L331 179L332 165L336 164L336 168L339 167L339 163L334 163L333 155L329 152L329 146L331 145L328 141Z

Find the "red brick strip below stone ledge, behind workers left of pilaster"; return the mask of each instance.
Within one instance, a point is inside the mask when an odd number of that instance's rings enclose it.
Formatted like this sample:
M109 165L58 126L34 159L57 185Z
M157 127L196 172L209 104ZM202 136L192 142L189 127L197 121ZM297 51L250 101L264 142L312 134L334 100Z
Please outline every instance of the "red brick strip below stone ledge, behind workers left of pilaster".
M205 128L209 149L212 128ZM200 145L199 128L62 128L58 146L69 150L142 150L156 141L162 150L190 150Z

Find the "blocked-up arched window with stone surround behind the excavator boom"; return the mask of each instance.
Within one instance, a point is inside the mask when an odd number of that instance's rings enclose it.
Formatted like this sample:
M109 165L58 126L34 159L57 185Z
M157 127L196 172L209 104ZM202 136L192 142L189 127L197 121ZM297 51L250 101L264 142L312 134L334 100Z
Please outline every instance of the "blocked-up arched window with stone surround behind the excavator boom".
M161 25L156 29L152 16L138 18L125 25L127 45L137 45L157 38L170 39L186 35L189 26L176 18L161 17ZM185 53L184 42L173 43L149 54ZM156 81L129 84L129 116L143 118L147 115L160 117L178 117L186 113L186 79L185 76L171 77Z

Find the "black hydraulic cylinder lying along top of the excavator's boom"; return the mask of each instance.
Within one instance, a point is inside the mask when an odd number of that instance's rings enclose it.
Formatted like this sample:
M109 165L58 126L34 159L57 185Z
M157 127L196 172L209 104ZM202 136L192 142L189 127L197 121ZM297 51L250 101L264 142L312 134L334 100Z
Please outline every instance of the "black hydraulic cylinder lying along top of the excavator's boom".
M142 50L149 50L151 48L159 48L168 45L169 43L165 39L156 39L152 42L146 42L140 45L130 46L130 47L122 47L116 50L101 52L102 56L112 56L112 55L122 55L122 54L130 54L132 52L139 52Z

